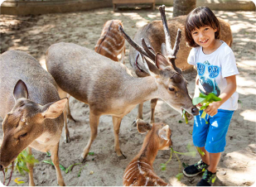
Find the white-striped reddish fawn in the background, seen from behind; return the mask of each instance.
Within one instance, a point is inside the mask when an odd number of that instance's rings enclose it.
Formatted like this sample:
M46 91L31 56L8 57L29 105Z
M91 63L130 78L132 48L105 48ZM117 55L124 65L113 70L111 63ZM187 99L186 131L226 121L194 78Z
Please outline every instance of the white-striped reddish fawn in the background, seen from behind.
M125 39L118 31L119 26L123 26L120 20L109 20L105 22L94 50L100 55L104 55L114 61L118 61L118 55L121 55L120 61L124 64Z

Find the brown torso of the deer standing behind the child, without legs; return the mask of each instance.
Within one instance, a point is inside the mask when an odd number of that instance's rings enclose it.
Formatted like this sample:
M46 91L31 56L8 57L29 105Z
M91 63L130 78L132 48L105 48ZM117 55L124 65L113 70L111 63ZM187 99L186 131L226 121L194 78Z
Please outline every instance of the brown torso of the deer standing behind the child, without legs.
M232 45L232 33L228 22L225 22L223 19L218 18L220 22L221 34L220 40L225 41L229 46ZM181 70L188 70L192 67L187 63L187 57L191 51L191 47L186 46L185 39L185 22L186 16L173 17L167 21L168 29L171 36L171 46L174 46L176 33L178 28L181 29L181 43L180 50L177 53L176 66L181 68ZM165 43L165 35L163 31L162 21L153 21L148 23L145 26L142 26L136 35L134 36L134 41L142 46L141 38L144 38L147 45L152 46L156 52L161 52L161 45ZM138 74L138 76L147 76L147 74L142 74L138 71L138 68L135 65L135 57L138 54L133 47L130 46L129 49L129 61L133 66L133 70Z

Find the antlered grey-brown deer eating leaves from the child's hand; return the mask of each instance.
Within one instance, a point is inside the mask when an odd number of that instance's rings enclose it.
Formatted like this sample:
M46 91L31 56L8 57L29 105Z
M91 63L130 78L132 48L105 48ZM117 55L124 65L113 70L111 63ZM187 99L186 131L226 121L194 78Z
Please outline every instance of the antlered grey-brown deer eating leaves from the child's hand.
M125 37L129 42L132 41L128 36ZM178 50L178 43L179 40L172 54L174 56ZM140 51L147 55L144 50ZM101 115L113 116L114 150L119 158L126 158L119 146L120 123L138 103L152 98L162 98L179 113L185 109L187 113L198 115L198 109L193 106L188 94L186 79L176 71L174 59L170 63L165 56L157 53L154 59L155 66L146 59L148 57L149 55L145 57L145 65L151 76L134 78L125 65L82 46L61 42L47 50L46 67L60 89L89 104L91 132L81 155L83 161L97 136Z

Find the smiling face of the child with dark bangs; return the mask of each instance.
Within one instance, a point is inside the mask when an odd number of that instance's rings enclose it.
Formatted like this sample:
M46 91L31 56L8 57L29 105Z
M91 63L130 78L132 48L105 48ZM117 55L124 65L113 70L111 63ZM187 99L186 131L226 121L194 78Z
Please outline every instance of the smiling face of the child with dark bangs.
M215 31L217 29L213 29L210 26L201 26L199 29L196 28L191 32L193 40L197 45L202 46L204 49L210 49L214 46L213 41L215 41Z

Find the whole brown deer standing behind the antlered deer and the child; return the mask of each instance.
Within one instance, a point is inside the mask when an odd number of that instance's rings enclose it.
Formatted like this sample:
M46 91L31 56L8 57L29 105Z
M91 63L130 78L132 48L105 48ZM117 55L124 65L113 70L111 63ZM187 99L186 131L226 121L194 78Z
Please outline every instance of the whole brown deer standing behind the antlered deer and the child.
M165 6L160 6L159 11L162 12L162 19L165 19ZM218 18L220 21L221 27L221 37L220 40L225 41L229 46L232 45L232 32L228 22L225 22L223 19ZM138 45L142 45L141 39L144 38L147 46L149 47L152 52L157 53L162 51L162 43L166 40L166 34L163 30L163 20L153 21L148 23L145 26L142 26L137 33L135 34L133 41L138 43ZM176 32L178 29L181 29L181 35L185 36L185 22L186 16L181 17L171 17L166 26L168 28L168 34L170 38L176 37ZM174 45L174 41L171 42L171 45ZM170 46L171 46L170 45ZM188 70L191 69L193 66L187 63L187 57L190 53L191 48L186 46L185 37L181 37L180 49L178 55L176 55L176 66L181 68L181 70ZM132 46L129 48L129 62L133 67L134 72L138 75L138 77L146 77L149 76L147 69L142 65L142 60L138 58L138 50L135 50ZM157 98L151 100L151 123L155 122L154 119L154 111L157 105ZM138 116L137 118L142 118L142 108L143 103L139 104L138 106ZM135 122L135 121L134 121ZM134 123L136 125L136 123Z

